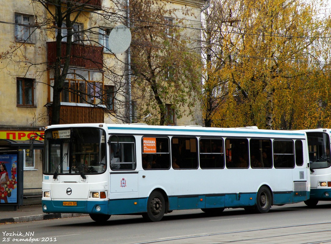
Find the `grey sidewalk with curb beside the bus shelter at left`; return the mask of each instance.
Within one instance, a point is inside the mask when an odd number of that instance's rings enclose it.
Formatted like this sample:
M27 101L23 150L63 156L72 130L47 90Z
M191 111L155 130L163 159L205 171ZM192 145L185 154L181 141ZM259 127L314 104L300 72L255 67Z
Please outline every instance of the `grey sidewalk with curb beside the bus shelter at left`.
M59 218L70 218L88 216L88 214L45 214L42 212L41 197L23 201L16 211L0 211L0 223L27 222L34 220L50 220Z

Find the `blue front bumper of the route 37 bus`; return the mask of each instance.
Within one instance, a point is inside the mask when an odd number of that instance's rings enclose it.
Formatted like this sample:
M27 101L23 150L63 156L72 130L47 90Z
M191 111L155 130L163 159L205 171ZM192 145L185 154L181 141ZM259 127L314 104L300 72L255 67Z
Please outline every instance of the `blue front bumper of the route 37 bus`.
M74 201L76 206L63 206L63 201L41 201L44 213L108 214L108 201ZM100 209L97 211L97 209Z

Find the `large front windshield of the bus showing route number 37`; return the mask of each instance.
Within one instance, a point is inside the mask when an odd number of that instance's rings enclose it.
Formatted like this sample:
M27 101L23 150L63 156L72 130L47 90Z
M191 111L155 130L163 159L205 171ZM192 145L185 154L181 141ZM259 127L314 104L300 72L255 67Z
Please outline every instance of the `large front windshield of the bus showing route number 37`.
M44 174L95 174L106 170L106 134L99 128L45 131Z

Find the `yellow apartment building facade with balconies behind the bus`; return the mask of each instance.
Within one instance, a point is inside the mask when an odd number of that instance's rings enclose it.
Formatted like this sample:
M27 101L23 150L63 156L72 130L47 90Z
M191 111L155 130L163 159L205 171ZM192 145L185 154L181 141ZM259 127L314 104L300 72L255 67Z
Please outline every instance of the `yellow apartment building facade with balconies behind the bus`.
M164 1L174 16L170 24L186 19L188 35L200 45L201 9L205 1ZM128 25L126 2L106 0L17 0L0 9L0 139L28 140L43 134L52 123L57 71L64 73L60 92L59 123L139 122L131 102L128 83L128 53L112 53L111 30ZM188 15L183 9L190 9ZM61 26L55 13L71 11ZM67 25L70 25L67 27ZM60 33L61 40L57 37ZM71 38L71 41L68 39ZM59 45L61 43L61 45ZM67 46L70 45L70 48ZM69 50L69 51L68 51ZM133 94L134 95L134 94ZM187 108L181 108L185 111ZM171 104L167 113L172 124L199 124L195 117L175 118ZM37 139L39 140L39 139ZM40 139L42 140L42 139ZM24 152L24 195L41 193L42 151L29 158Z

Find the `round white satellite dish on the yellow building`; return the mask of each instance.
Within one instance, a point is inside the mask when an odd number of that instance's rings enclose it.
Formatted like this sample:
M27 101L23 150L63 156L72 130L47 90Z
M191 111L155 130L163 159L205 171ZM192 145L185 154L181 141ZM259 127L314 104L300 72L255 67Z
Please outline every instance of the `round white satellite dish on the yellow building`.
M118 25L109 34L108 45L112 53L123 53L131 43L130 28L125 25Z

